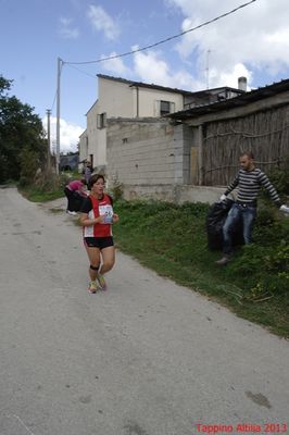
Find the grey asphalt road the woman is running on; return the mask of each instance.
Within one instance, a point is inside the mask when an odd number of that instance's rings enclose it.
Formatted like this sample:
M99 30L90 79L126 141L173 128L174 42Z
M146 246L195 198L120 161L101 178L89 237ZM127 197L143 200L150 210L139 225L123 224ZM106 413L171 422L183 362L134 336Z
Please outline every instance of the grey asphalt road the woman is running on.
M0 204L1 435L286 433L288 341L121 252L89 295L65 200Z

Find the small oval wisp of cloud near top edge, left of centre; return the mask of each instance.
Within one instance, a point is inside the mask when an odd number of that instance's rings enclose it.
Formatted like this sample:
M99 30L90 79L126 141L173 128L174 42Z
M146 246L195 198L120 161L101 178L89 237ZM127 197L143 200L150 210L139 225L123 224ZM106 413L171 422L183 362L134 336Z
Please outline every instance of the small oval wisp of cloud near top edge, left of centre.
M103 32L109 40L116 40L120 36L120 26L113 18L104 11L102 7L88 7L88 18L92 27L97 32Z

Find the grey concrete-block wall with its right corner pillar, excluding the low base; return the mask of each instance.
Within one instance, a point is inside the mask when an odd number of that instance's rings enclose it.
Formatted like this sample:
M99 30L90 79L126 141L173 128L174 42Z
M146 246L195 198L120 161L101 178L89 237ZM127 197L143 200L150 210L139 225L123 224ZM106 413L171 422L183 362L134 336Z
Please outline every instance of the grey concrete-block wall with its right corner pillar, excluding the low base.
M190 183L192 129L168 120L110 120L108 174L129 185Z

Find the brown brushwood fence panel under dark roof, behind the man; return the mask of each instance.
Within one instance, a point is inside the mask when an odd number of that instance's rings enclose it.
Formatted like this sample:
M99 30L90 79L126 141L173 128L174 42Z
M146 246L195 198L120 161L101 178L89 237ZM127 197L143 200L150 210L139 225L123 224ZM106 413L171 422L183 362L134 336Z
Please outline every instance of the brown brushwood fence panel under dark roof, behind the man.
M289 164L289 105L203 125L204 186L228 185L241 152L251 150L266 173Z

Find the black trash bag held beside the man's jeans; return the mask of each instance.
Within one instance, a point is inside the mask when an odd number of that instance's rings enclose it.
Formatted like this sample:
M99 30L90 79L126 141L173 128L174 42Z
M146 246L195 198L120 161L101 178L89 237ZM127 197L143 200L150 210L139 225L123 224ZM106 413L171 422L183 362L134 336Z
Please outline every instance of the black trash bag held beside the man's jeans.
M208 212L205 226L208 235L208 246L211 250L223 249L223 226L227 214L234 204L231 199L215 202ZM233 246L243 245L242 222L240 221L233 231Z

